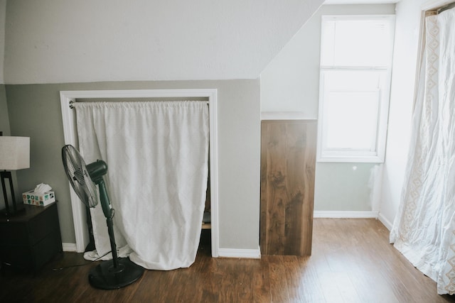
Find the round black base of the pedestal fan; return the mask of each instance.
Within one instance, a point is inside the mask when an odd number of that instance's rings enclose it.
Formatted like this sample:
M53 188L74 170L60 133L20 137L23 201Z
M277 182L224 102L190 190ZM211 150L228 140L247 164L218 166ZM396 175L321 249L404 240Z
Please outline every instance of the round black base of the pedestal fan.
M112 260L103 261L90 270L90 285L101 290L117 290L137 281L144 273L144 268L132 263L129 258L118 258L119 265L114 268Z

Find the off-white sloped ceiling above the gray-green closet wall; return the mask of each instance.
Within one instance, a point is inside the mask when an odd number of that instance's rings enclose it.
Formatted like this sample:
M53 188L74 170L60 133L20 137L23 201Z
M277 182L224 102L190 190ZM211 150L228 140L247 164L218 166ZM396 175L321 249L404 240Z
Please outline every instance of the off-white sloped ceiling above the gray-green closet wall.
M8 0L6 84L255 79L323 0Z

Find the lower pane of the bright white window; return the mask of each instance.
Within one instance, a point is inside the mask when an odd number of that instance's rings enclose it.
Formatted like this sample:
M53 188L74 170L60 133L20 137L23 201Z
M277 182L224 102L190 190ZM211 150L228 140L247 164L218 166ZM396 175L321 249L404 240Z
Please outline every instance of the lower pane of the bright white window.
M380 115L380 70L323 71L323 146L375 151Z

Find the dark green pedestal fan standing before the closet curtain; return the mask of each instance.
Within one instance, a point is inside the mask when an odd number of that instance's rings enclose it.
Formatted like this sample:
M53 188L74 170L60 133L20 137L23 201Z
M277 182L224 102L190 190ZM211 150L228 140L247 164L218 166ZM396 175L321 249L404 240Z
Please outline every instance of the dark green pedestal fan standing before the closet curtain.
M114 225L112 223L115 210L109 202L105 181L103 180L103 176L107 173L106 162L97 160L85 165L84 159L82 159L82 156L73 145L63 146L62 159L71 186L86 206L97 206L98 199L95 184L98 185L102 211L106 217L112 260L103 261L90 270L88 276L90 285L102 290L114 290L132 284L141 277L144 268L132 263L129 258L117 257Z

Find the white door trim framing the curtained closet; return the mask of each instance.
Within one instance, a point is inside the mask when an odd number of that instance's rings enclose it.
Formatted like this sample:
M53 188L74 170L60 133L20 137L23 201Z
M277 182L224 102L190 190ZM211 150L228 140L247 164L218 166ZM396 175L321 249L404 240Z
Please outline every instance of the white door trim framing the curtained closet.
M79 146L75 111L70 104L82 98L208 98L210 119L210 224L212 256L218 257L218 121L217 121L217 89L133 89L133 90L90 90L90 91L61 91L60 106L62 109L63 133L65 144ZM71 188L71 187L70 187ZM85 206L77 194L70 189L71 208L76 238L76 250L82 253L88 243L88 233L85 224Z

